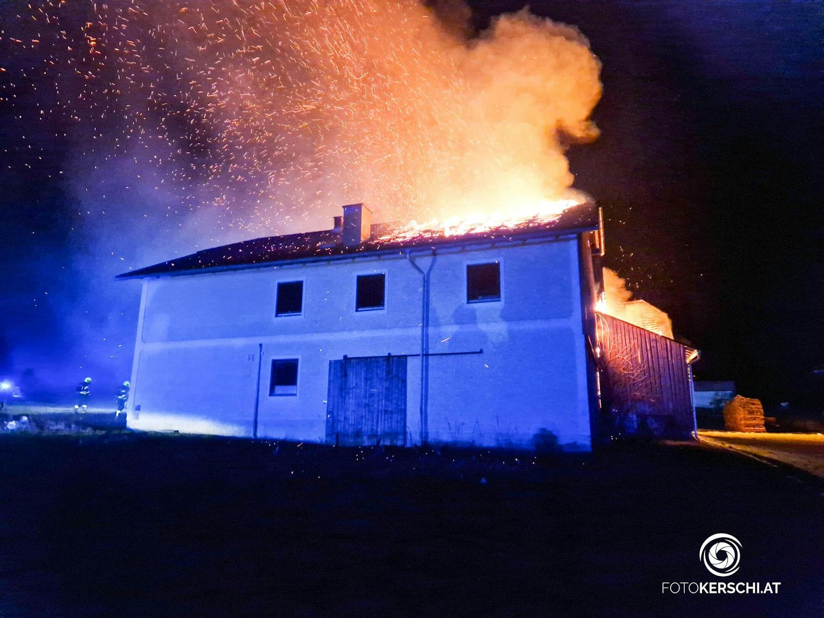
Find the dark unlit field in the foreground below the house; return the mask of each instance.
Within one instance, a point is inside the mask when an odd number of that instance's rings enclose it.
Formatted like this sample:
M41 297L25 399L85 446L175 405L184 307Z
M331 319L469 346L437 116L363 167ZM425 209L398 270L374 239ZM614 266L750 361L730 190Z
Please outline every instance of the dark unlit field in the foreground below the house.
M822 487L708 447L4 436L0 466L0 616L824 611ZM728 579L780 593L662 595L721 579L698 557L716 532L742 541Z

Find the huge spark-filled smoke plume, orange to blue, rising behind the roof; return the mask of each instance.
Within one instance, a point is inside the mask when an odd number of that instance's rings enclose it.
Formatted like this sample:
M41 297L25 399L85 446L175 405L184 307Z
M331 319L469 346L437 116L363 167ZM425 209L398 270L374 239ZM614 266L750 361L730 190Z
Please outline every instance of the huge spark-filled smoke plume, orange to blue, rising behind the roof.
M38 326L7 334L17 368L128 376L137 290L111 278L129 268L326 227L356 201L408 222L517 217L570 197L565 147L597 135L587 40L527 11L474 32L465 6L438 8L20 2L0 98L21 123L3 130L22 155L66 152L47 173L69 241L54 284L21 288ZM47 255L33 251L28 279L47 279Z

